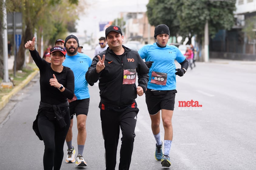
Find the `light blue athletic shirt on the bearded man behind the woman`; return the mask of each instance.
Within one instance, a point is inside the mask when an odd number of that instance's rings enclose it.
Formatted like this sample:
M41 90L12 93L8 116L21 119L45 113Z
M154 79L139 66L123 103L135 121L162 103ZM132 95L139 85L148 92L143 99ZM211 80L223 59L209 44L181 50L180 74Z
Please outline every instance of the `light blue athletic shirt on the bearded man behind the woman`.
M90 98L88 82L85 80L85 73L92 64L92 59L83 53L69 56L66 54L64 66L71 68L75 76L75 90L74 94L78 100Z

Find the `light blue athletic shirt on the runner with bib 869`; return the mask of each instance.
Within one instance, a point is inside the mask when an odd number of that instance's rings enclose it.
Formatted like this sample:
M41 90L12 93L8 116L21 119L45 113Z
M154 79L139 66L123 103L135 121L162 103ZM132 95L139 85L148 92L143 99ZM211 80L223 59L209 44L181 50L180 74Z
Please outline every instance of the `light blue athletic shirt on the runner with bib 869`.
M167 45L164 48L158 47L156 43L144 45L138 51L140 57L145 61L153 61L151 68L149 69L149 81L147 88L154 90L174 90L176 89L176 75L175 75L175 63L181 63L185 60L185 56L175 45ZM152 71L167 73L166 85L157 85L151 83Z

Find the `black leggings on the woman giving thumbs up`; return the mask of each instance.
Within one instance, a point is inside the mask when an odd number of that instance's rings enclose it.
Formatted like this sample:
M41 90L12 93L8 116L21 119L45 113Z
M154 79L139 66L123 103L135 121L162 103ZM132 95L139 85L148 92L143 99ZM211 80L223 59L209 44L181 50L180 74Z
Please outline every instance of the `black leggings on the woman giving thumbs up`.
M70 126L69 109L64 116L66 127L60 128L56 120L50 121L43 113L38 115L38 128L44 142L43 169L59 170L63 160L63 147Z

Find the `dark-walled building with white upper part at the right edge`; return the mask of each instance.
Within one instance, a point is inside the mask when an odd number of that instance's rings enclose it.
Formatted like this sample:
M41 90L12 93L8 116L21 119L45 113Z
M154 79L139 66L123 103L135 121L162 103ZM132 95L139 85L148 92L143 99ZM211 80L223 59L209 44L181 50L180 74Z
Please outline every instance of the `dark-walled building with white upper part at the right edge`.
M231 30L220 30L209 42L209 56L255 61L256 0L237 0Z

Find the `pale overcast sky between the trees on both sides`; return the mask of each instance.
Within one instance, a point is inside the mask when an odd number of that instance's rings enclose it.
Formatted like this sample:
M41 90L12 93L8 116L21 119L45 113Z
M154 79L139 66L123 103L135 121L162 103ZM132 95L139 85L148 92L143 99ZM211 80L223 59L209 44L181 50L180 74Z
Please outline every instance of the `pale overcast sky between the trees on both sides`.
M83 35L85 30L87 35L98 37L99 22L113 21L120 18L120 12L146 12L149 0L94 0L86 15L81 15L78 20L77 31ZM102 33L101 33L102 34Z

